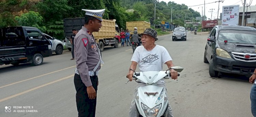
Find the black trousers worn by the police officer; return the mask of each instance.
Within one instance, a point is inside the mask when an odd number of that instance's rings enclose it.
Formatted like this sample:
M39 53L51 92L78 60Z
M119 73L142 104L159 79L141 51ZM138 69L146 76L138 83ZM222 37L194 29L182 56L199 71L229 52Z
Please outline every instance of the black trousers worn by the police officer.
M90 76L90 79L97 94L98 76ZM89 99L86 90L87 87L82 82L80 75L75 74L74 84L76 90L76 107L78 117L95 117L97 98Z

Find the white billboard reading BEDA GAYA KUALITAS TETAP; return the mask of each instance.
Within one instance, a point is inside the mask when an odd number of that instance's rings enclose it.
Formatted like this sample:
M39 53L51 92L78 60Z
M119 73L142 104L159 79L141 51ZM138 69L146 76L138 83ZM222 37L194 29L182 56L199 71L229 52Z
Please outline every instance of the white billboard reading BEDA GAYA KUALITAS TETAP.
M222 25L238 25L239 5L223 6Z

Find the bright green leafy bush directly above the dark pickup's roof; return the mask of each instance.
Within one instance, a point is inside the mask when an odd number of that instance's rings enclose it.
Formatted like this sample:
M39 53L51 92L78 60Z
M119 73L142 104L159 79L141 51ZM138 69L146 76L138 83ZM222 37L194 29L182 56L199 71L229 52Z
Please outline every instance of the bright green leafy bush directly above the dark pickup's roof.
M46 31L46 27L43 26L43 17L38 12L29 11L28 13L22 14L20 17L16 16L15 20L20 26L31 26L36 27L42 32Z

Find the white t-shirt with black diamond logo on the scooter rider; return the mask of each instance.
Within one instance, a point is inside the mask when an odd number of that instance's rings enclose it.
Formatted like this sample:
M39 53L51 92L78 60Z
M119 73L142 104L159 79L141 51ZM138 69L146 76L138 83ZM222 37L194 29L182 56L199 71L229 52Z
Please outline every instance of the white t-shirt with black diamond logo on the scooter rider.
M144 46L138 46L134 51L131 61L139 63L141 72L162 71L163 64L172 60L165 47L156 45L151 51L147 51ZM158 84L165 83L160 80Z

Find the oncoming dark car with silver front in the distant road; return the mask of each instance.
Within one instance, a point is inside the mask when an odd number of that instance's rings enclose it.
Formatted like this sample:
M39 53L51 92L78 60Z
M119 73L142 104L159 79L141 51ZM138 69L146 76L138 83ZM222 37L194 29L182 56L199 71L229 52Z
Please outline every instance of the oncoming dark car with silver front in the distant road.
M172 41L174 40L187 40L187 31L184 27L176 27L172 33Z

